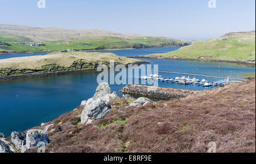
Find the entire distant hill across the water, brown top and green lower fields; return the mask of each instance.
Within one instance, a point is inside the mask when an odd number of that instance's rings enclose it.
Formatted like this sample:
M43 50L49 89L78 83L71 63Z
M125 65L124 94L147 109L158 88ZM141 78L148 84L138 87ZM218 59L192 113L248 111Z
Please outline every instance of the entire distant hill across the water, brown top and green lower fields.
M110 31L71 30L55 27L36 28L0 24L0 53L40 53L45 51L141 49L158 47L181 47L191 41L167 37L121 34ZM30 46L21 42L42 42L44 46ZM8 44L8 45L6 45Z

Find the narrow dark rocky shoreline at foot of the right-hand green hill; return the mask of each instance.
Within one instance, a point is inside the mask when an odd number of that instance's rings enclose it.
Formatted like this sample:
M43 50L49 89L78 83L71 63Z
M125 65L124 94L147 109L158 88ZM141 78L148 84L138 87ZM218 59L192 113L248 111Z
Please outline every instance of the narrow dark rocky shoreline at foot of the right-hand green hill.
M192 58L169 58L169 57L147 57L147 56L134 56L126 58L141 58L141 59L164 59L164 60L180 60L180 61L203 61L203 62L223 62L223 63L234 63L241 64L247 67L255 67L255 62L246 62L246 61L227 61L221 59L192 59Z

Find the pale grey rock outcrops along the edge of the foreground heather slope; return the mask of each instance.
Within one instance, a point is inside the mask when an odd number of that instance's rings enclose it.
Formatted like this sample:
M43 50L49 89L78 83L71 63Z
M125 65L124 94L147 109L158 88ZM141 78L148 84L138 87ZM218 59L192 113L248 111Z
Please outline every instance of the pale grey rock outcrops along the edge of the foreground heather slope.
M118 98L117 94L112 93L109 84L104 82L98 85L92 98L82 101L77 109L63 115L76 113L76 117L71 119L73 123L69 124L72 127L79 124L92 124L93 121L104 119L109 114L109 110L112 109L110 101L115 98ZM146 106L149 102L154 103L148 98L141 97L130 103L130 106ZM40 150L45 151L45 146L52 143L48 136L64 131L65 121L62 119L60 122L56 122L55 119L24 132L13 131L11 136L7 138L3 133L0 133L0 153L39 153Z

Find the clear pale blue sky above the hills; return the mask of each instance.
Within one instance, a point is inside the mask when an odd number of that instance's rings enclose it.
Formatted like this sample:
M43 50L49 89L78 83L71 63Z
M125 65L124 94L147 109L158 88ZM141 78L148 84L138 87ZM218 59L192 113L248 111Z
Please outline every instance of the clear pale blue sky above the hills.
M255 30L255 0L0 0L0 24L207 39Z

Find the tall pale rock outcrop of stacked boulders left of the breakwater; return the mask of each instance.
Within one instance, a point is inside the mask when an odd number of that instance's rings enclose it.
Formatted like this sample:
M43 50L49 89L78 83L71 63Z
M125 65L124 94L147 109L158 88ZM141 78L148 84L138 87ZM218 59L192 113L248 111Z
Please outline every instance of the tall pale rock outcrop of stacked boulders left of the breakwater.
M105 118L109 114L111 99L117 97L117 93L111 93L111 88L108 83L101 83L96 89L96 93L88 101L82 101L85 104L81 114L81 123L88 124L92 120ZM81 104L82 104L81 103Z

